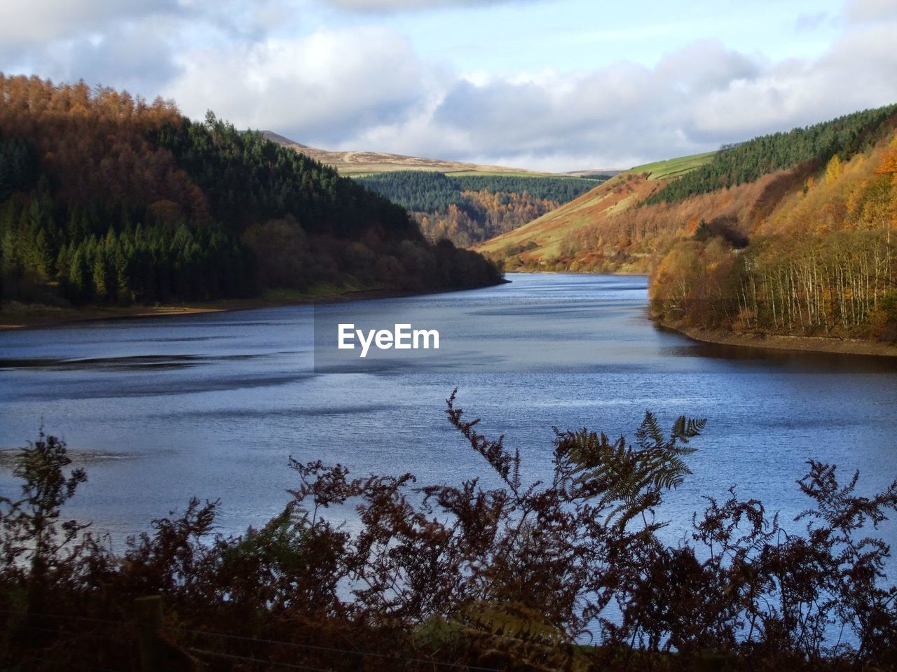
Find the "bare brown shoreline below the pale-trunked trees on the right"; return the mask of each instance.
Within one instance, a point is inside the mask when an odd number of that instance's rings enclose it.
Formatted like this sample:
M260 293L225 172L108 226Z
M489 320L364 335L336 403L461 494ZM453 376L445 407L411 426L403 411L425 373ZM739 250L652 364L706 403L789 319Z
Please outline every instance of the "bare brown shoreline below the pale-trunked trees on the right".
M741 348L824 352L834 355L897 357L897 345L875 340L835 339L823 336L783 336L779 334L736 333L721 329L704 329L681 323L654 321L659 328L681 333L692 340Z

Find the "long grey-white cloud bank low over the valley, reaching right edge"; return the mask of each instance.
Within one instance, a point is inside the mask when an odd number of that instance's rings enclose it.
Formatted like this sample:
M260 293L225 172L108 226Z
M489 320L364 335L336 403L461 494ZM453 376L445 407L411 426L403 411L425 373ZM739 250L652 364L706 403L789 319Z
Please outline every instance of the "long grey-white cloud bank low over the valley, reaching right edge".
M814 60L770 62L703 41L653 68L461 79L425 118L361 129L343 144L549 170L626 168L897 102L894 34L884 24L852 30Z

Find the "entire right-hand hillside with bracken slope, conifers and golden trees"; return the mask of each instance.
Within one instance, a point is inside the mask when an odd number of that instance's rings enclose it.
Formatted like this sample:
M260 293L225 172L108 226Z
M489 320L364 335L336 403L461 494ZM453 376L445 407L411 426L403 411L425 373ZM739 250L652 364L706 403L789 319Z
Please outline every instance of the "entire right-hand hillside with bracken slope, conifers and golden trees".
M506 269L651 274L693 332L897 340L897 106L633 168L476 246Z

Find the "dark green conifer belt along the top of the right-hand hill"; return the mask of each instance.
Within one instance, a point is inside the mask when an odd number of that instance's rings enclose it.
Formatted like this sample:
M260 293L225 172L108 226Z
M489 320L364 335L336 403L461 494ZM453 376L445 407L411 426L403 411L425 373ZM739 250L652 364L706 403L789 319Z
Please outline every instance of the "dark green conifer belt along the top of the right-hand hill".
M832 121L795 128L788 133L762 135L718 151L710 163L695 168L649 195L645 203L677 202L735 185L763 175L813 162L823 167L832 156L849 159L871 147L893 130L897 105L867 109Z

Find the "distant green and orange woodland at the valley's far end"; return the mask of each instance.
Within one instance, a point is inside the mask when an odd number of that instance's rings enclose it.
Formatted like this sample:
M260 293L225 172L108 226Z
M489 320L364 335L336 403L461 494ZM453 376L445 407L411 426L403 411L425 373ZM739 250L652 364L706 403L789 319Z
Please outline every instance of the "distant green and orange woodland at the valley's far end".
M422 170L356 179L411 211L431 241L448 238L463 247L536 220L602 182L580 177L447 176Z

